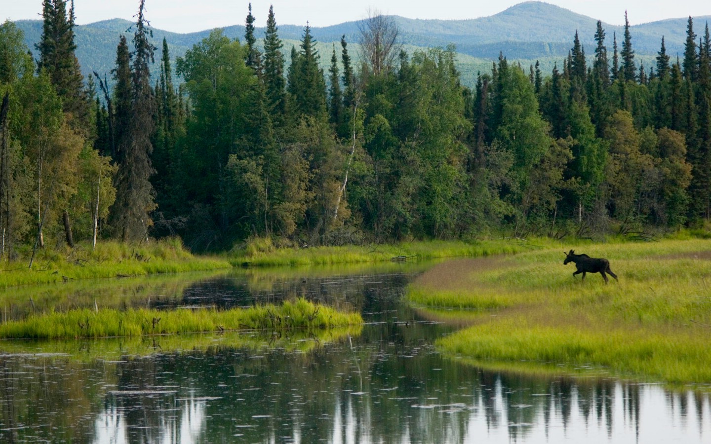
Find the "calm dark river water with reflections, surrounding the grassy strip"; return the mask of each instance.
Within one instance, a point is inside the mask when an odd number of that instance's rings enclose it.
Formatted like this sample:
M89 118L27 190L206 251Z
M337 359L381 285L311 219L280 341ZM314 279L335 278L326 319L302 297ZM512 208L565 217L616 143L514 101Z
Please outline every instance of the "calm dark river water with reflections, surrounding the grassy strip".
M2 341L0 442L711 442L703 391L523 377L444 359L432 342L456 327L424 319L402 301L416 272L104 281L93 291L46 288L29 305L25 296L6 295L13 304L4 313L14 316L92 305L96 294L105 305L165 309L306 296L360 310L368 324L359 335L331 339L244 332L157 337L139 347Z

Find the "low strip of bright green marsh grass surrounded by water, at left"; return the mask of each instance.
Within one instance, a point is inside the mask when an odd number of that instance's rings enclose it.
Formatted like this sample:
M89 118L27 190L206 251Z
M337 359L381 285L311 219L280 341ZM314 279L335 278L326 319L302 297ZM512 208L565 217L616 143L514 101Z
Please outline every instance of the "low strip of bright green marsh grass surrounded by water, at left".
M313 330L363 323L358 313L339 313L304 299L282 305L231 310L69 310L31 315L0 325L3 338L137 337L242 329Z

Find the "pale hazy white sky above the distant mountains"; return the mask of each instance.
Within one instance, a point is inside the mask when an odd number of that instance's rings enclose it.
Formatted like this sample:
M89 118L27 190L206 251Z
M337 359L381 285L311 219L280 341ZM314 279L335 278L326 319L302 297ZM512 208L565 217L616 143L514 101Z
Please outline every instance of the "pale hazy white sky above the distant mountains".
M265 26L269 4L274 5L277 24L329 26L365 18L368 9L408 18L478 18L491 16L520 0L253 0L257 26ZM549 0L547 3L597 18L623 24L624 11L633 25L663 18L711 15L708 0ZM139 0L75 0L78 24L108 18L132 20ZM249 0L146 0L146 18L154 28L187 33L244 23ZM42 0L0 0L0 21L6 18L40 18Z

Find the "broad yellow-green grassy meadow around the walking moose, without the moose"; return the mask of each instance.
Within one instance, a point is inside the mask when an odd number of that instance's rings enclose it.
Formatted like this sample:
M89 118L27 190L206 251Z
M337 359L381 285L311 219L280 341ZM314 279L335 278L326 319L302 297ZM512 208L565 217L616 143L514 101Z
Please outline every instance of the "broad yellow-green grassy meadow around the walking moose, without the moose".
M437 347L478 364L711 383L711 240L566 248L609 259L619 281L587 274L583 282L574 264L563 266L562 248L547 248L439 264L408 296L456 310L469 326Z

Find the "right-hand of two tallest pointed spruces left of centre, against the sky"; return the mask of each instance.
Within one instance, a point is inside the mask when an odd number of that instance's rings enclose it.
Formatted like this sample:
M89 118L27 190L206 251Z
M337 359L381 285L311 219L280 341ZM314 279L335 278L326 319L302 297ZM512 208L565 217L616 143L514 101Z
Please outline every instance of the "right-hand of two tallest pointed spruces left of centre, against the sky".
M269 6L267 30L264 31L264 85L266 87L267 109L272 114L275 126L283 124L287 104L284 91L283 45L277 35L278 30L277 21L274 18L274 8Z

